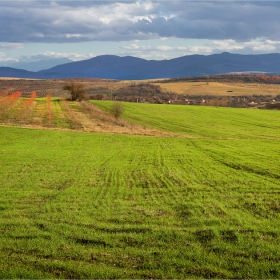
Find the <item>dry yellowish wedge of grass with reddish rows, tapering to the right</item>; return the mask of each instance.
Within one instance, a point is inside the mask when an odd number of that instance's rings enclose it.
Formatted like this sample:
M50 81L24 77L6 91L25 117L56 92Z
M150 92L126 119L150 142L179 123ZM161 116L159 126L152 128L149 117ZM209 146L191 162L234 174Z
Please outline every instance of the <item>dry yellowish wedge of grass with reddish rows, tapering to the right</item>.
M3 97L4 100L4 97ZM48 119L47 100L38 99L28 110L22 109L24 99L19 99L9 107L0 110L0 125L21 126L35 129L71 130L83 132L132 134L149 136L172 136L168 132L133 124L120 117L99 109L86 101L52 100L52 118ZM1 109L1 107L0 107ZM24 113L24 115L23 115Z

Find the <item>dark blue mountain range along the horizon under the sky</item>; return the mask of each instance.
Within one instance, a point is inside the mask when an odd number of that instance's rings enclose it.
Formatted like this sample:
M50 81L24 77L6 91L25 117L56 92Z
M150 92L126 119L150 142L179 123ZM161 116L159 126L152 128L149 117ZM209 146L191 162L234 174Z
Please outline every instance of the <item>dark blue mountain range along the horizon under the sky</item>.
M0 77L18 78L108 78L142 80L203 76L231 72L280 73L280 54L240 55L221 53L187 55L170 60L145 60L132 56L102 55L30 72L0 67Z

